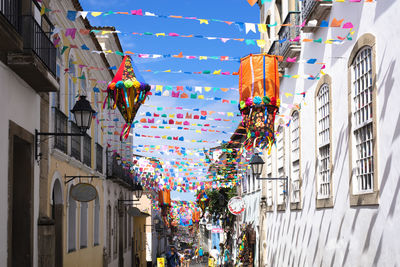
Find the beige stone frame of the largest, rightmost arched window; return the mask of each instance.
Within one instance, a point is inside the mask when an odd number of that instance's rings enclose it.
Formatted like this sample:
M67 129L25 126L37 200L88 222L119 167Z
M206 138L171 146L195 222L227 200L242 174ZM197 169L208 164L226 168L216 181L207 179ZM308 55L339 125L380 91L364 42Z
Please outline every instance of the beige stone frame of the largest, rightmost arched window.
M369 47L371 49L371 80L372 80L372 135L373 135L373 145L372 145L372 164L373 164L373 178L372 178L372 190L365 193L354 193L354 183L355 178L353 167L355 166L354 160L356 156L354 155L354 130L353 127L353 64L359 53ZM366 33L359 37L355 43L348 61L348 136L349 136L349 195L350 195L350 206L371 206L379 205L379 179L378 179L378 134L377 134L377 86L376 86L376 38L370 33ZM367 123L365 124L367 125Z

